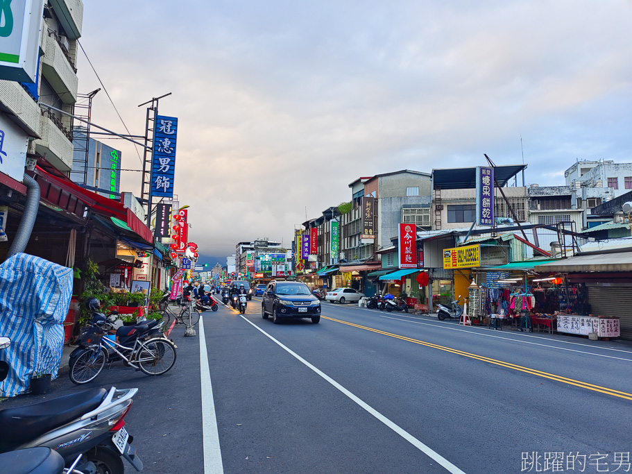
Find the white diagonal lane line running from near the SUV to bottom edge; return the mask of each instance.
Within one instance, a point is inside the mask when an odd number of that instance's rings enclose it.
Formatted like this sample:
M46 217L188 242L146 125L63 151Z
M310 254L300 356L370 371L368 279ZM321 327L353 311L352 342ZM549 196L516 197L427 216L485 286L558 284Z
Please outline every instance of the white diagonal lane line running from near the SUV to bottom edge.
M441 464L441 466L443 466L446 471L448 471L448 472L450 472L452 474L465 474L463 471L461 471L461 469L459 469L458 467L454 466L454 464L452 464L450 461L445 459L445 457L441 456L440 454L438 454L438 452L436 452L436 451L432 450L431 448L429 448L428 446L426 446L424 443L419 441L416 437L413 437L413 435L410 434L409 432L407 432L406 430L400 428L398 425L393 423L393 421L391 421L388 418L386 418L386 416L384 416L383 414L379 413L376 409L374 409L373 407L371 407L370 405L368 405L367 403L362 401L360 398L355 396L353 393L351 393L350 391L345 389L345 387L343 387L341 384L336 382L329 375L326 375L321 370L316 369L315 366L311 365L309 362L307 362L307 360L305 360L302 357L300 357L300 355L295 353L293 350L291 350L287 346L284 346L280 341L277 341L277 339L275 339L274 337L269 335L267 332L262 330L262 328L259 328L259 326L257 326L255 323L251 322L250 320L245 318L243 315L240 315L240 316L241 316L242 319L244 319L244 321L246 321L248 324L252 325L259 332L262 332L263 335L265 335L266 337L268 337L268 339L271 339L273 342L275 342L275 344L280 346L280 348L285 350L292 357L294 357L299 362L301 362L302 364L307 366L309 369L311 369L312 371L314 371L315 373L320 375L323 379L325 379L327 382L332 384L336 389L339 389L339 391L341 391L346 396L348 396L348 398L350 398L352 401L357 403L360 407L364 408L369 414L375 416L375 418L377 418L379 421L384 423L384 425L388 426L388 428L391 428L391 430L393 430L395 433L399 434L400 437L404 438L406 441L411 443L413 446L415 446L418 450L423 452L429 458L434 459L434 461L437 462L438 464Z

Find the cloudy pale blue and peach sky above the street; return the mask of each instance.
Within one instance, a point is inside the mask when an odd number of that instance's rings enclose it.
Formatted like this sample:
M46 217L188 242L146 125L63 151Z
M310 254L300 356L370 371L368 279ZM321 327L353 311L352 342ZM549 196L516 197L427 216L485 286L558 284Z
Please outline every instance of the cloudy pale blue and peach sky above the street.
M178 117L176 193L206 255L350 200L359 176L632 161L632 2L84 0L80 39L123 120ZM100 87L85 57L80 92ZM96 124L123 132L103 91ZM123 168L140 169L133 146ZM121 173L140 192L140 173Z

